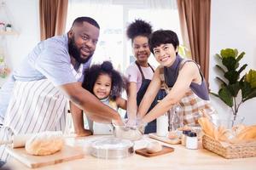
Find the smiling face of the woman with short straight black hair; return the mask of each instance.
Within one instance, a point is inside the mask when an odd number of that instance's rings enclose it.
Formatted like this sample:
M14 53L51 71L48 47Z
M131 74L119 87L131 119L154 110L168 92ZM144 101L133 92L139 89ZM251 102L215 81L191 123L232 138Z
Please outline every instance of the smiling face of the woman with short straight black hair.
M160 44L160 46L153 48L154 57L163 66L171 66L175 59L177 48L175 49L172 43Z

